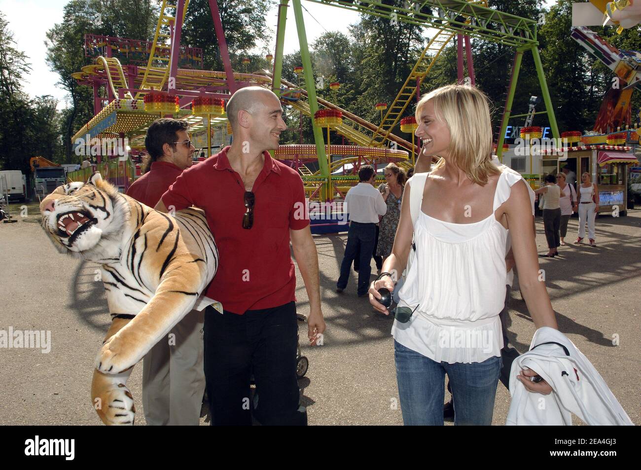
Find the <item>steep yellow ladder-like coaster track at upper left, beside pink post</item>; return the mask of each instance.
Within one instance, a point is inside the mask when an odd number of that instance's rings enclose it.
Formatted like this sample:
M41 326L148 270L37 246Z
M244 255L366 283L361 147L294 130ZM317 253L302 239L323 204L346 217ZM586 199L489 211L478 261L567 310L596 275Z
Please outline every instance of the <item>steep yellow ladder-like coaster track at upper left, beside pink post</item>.
M187 13L188 5L189 0L185 0L183 22L185 21L185 13ZM167 81L167 77L169 76L169 61L171 60L171 54L167 53L171 47L171 44L169 44L171 35L162 31L164 31L163 26L171 29L174 27L174 24L176 24L175 12L177 8L178 0L163 0L162 6L160 6L160 15L158 16L156 33L154 33L154 42L151 46L149 61L147 62L147 68L142 78L142 85L140 85L142 89L160 91L165 86L165 81ZM174 10L174 16L168 14L168 10L172 9ZM166 43L165 40L167 40ZM138 92L136 99L140 99L142 94L144 94L144 92Z

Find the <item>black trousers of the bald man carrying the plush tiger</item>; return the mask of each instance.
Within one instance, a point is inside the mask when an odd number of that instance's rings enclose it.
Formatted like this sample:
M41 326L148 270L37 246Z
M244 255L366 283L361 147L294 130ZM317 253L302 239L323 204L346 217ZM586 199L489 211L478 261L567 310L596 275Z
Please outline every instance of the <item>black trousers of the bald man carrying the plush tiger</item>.
M260 424L307 424L306 412L299 411L297 335L294 302L244 315L206 308L204 375L213 425L251 426L252 374Z

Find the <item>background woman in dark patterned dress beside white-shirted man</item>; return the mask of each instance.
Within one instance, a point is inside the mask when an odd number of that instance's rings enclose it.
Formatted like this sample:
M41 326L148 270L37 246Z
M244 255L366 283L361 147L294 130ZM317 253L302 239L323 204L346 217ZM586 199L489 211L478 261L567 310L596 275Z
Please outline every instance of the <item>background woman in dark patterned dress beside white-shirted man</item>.
M385 183L379 185L378 190L383 194L383 201L387 204L387 212L381 219L376 255L382 256L383 261L392 253L396 228L401 217L401 199L405 185L405 171L397 165L390 163L385 167Z

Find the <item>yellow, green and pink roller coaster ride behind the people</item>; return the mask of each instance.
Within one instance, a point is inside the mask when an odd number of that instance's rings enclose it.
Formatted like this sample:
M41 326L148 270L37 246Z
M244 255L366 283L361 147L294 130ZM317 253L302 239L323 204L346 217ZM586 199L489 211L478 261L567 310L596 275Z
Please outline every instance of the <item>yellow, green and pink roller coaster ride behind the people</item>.
M83 67L74 74L74 78L79 84L93 88L95 116L74 135L74 149L87 145L88 141L100 143L108 139L127 138L131 155L137 156L144 150L144 136L149 124L158 117L176 117L188 121L190 133L196 138L201 136L203 143L206 142L203 147L206 147L207 155L212 155L212 139L224 144L231 133L224 112L226 99L238 88L257 85L271 89L281 97L283 104L298 110L301 119L303 115L311 119L314 144L283 145L274 152L274 157L299 170L310 199L332 201L344 197L346 190L358 181L356 173L362 164L372 164L374 167L387 162L397 162L404 167L414 164L415 155L420 149L413 139L417 124L410 104L420 98L420 84L455 36L459 83L472 86L475 79L470 38L515 48L503 119L497 132L499 158L504 149L508 121L525 116L513 115L512 104L522 56L528 51L534 59L545 105L545 110L536 114L545 113L553 137L562 137L556 125L537 49L537 21L488 8L487 0L408 1L404 4L405 8L389 6L384 0L308 1L376 15L390 21L407 22L430 28L430 32L433 32L394 101L389 106L387 103L376 105L381 110L378 125L317 96L301 0L292 0L303 62L295 70L299 76L297 85L283 80L281 76L289 0L280 0L276 51L274 56L266 56L270 65L273 58L272 71L254 73L232 70L215 0L209 0L209 3L224 71L203 70L202 50L180 44L189 0L163 0L152 42L85 36L85 54L95 59L95 63ZM464 77L463 55L466 56L467 78ZM126 56L128 64L122 65L118 56ZM106 97L100 96L101 87L106 90ZM336 89L340 84L331 83L329 87ZM411 142L392 132L397 124L401 125L402 132L410 133ZM331 131L342 135L351 145L330 147ZM327 142L325 137L328 138ZM97 169L103 173L103 177L112 180L121 190L126 190L131 181L139 176L139 170L131 158L117 158L117 153L113 149L106 153L99 152L96 155ZM92 169L72 172L69 178L87 180L89 171Z

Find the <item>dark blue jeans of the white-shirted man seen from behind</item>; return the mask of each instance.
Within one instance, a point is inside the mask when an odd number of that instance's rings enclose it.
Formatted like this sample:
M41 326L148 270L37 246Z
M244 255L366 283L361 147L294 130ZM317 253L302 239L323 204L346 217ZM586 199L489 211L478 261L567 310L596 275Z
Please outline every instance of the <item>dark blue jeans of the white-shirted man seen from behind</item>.
M340 277L336 283L340 289L347 287L349 269L356 256L359 256L358 266L358 295L367 294L369 290L369 276L372 274L372 251L376 239L376 224L361 224L351 222L347 231L347 246L345 255L340 264Z

